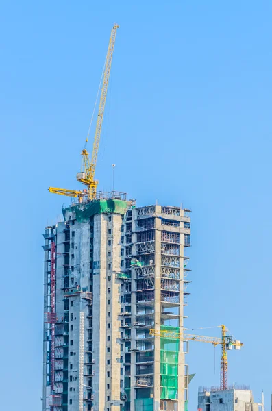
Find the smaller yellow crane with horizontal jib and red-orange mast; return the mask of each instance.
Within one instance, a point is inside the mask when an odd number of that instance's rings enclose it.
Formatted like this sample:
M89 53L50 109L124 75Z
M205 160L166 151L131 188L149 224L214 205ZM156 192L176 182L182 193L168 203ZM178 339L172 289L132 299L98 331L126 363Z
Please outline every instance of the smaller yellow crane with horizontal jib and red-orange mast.
M214 345L221 344L221 368L220 368L220 389L221 390L227 390L227 351L231 350L232 347L234 349L240 349L240 347L243 346L243 343L241 343L238 340L234 340L232 334L230 334L230 331L225 327L225 325L219 325L221 328L221 338L219 337L209 337L209 336L197 336L195 334L180 334L175 331L171 330L155 330L155 329L150 329L149 334L151 336L160 336L162 338L169 338L169 339L181 339L184 341L199 341L201 343L211 343Z

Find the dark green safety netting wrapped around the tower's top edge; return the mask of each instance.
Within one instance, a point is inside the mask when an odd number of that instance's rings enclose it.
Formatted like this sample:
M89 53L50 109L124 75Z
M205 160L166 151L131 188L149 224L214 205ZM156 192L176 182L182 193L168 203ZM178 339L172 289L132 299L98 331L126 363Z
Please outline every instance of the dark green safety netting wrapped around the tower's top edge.
M95 214L115 212L116 214L125 214L129 203L123 200L95 200L85 204L75 204L62 210L64 220L67 221L66 215L69 212L75 212L75 218L79 223L88 220Z

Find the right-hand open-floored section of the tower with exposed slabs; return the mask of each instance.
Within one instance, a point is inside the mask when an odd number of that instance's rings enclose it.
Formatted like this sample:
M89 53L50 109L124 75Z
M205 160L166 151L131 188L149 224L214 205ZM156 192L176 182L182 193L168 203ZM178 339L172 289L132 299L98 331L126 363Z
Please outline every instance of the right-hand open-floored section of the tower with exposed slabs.
M135 390L136 410L153 410L155 360L160 361L160 406L162 410L173 411L177 409L177 400L180 400L179 342L161 338L158 358L158 351L154 351L158 340L156 343L149 329L156 323L156 310L160 310L161 329L180 330L180 313L184 297L188 295L185 290L190 283L186 277L190 271L186 268L188 257L183 255L184 247L190 245L190 219L181 215L179 207L162 207L158 215L156 206L148 206L139 208L137 214L133 223L130 223L131 218L129 223L124 222L127 238L121 241L123 247L129 245L128 254L132 258L125 258L127 271L116 274L117 279L123 280L119 313L121 340L125 345L124 390L127 401L122 399L126 401L123 411L129 410L132 388ZM126 260L129 260L128 265ZM127 290L132 292L129 308L125 299ZM134 304L136 309L132 308Z

